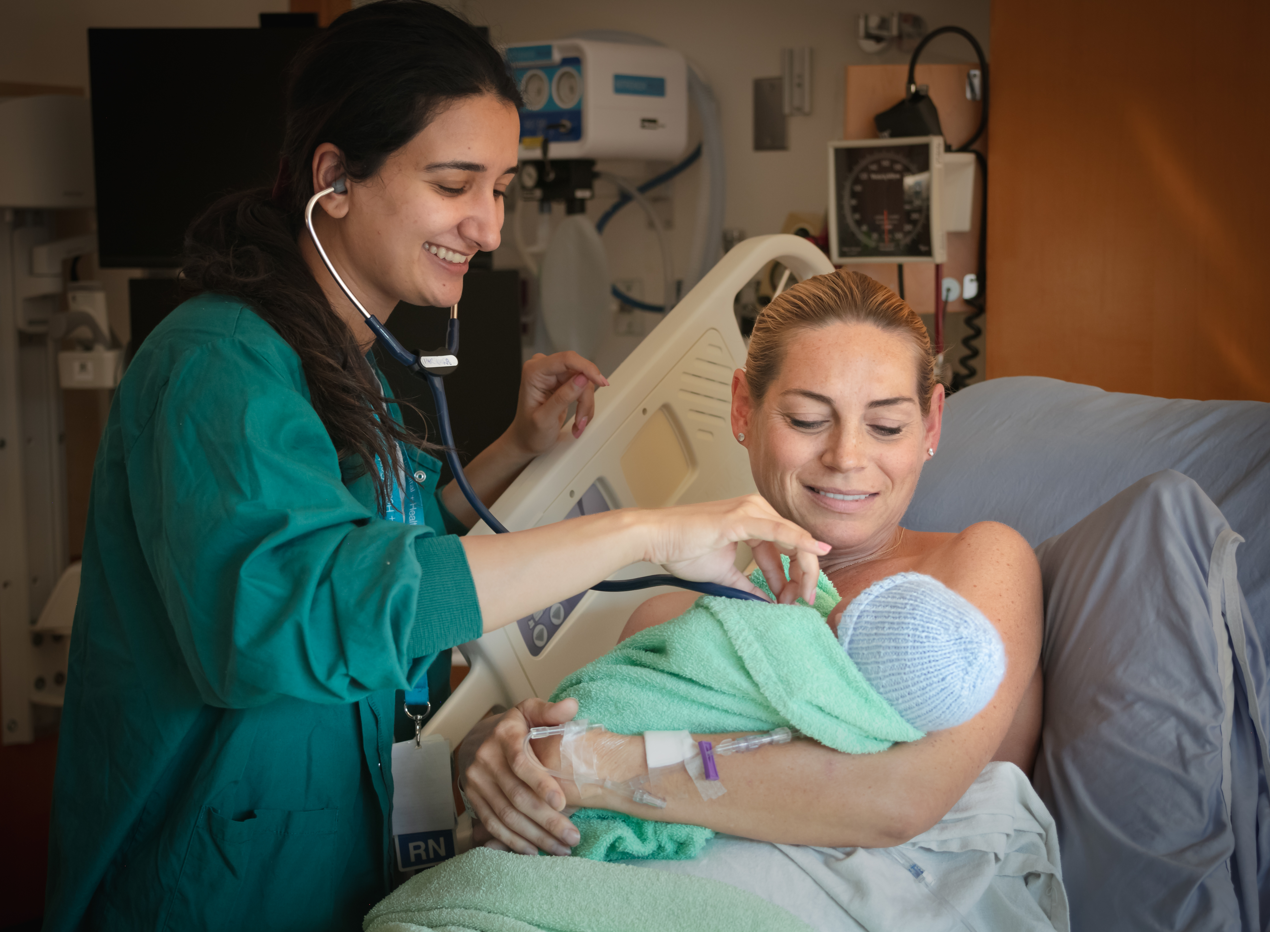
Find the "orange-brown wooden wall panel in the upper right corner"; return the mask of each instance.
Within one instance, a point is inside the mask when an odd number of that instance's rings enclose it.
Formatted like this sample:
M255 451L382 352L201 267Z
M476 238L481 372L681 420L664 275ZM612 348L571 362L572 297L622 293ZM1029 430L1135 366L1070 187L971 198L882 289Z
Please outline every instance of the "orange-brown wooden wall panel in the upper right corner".
M993 0L989 377L1270 401L1267 27L1264 3Z

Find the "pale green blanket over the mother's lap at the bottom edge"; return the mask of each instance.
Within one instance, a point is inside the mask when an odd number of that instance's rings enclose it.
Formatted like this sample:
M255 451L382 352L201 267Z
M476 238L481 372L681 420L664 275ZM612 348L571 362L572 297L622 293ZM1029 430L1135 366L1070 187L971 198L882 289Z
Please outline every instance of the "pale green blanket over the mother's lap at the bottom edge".
M403 884L367 932L810 932L716 880L474 848Z

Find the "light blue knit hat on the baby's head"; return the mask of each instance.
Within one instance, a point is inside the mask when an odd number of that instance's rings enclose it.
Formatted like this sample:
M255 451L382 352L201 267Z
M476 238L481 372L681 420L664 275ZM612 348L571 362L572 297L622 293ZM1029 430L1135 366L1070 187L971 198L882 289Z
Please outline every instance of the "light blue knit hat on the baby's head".
M973 719L1006 674L983 612L921 573L881 579L842 612L838 642L904 720L939 731Z

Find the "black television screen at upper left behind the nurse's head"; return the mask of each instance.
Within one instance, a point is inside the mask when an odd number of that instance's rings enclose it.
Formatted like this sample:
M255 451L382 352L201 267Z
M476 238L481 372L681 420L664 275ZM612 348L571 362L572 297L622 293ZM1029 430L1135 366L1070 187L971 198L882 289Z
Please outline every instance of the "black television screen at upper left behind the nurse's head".
M273 184L287 66L316 29L89 29L99 262L174 268L221 194Z

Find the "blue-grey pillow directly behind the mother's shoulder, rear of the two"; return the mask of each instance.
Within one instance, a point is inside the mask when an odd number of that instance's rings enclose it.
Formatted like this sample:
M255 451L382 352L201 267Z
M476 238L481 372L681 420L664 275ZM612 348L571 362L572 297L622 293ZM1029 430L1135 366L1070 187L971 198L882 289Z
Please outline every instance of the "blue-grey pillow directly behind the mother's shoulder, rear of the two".
M999 521L1034 547L1160 470L1194 479L1247 538L1240 585L1270 644L1270 405L992 378L949 399L935 458L904 516L913 531Z

